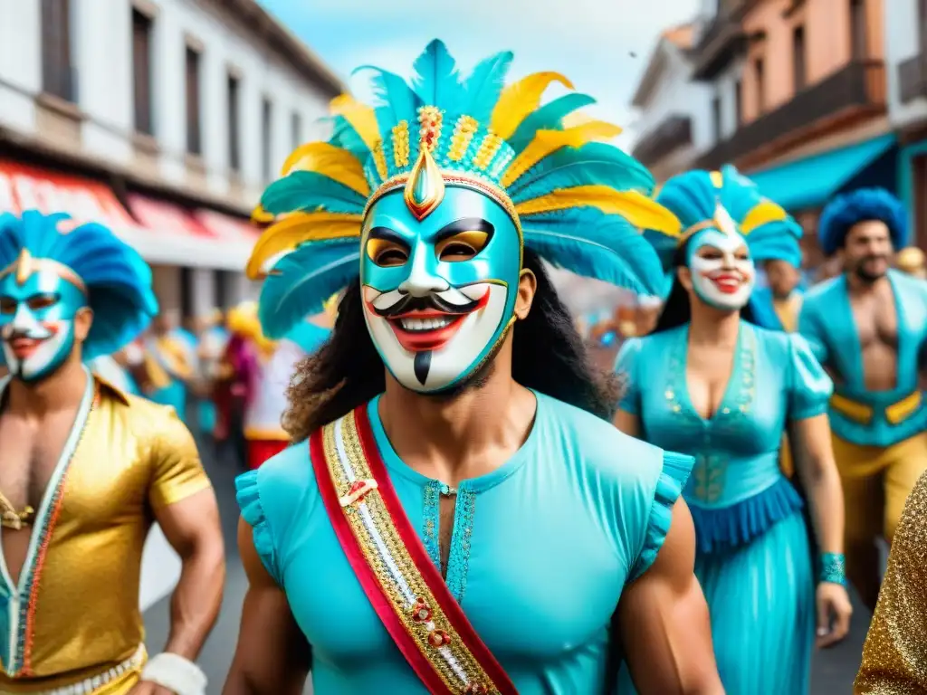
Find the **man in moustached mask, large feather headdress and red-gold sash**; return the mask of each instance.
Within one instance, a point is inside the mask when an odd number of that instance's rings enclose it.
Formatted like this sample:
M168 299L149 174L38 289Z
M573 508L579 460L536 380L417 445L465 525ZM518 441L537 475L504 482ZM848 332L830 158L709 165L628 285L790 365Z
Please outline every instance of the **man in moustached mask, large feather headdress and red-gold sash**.
M596 692L615 614L645 692L720 692L677 501L692 460L607 422L540 262L652 292L634 225L675 221L593 142L613 126L561 127L589 97L540 107L565 78L503 91L511 58L462 82L433 42L413 87L377 71L384 105L338 98L334 140L262 198L283 217L250 272L302 244L264 285L268 335L348 289L294 379L299 444L238 481L228 695L299 693L310 659L319 695Z

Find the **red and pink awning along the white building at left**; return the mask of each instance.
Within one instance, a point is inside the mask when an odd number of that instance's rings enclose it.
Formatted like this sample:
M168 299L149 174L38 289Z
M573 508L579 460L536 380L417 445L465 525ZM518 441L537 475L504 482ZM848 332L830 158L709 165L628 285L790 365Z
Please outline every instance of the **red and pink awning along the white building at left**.
M129 204L138 221L105 183L0 159L0 212L66 212L79 223L105 224L149 263L244 269L256 239L247 222L135 193Z

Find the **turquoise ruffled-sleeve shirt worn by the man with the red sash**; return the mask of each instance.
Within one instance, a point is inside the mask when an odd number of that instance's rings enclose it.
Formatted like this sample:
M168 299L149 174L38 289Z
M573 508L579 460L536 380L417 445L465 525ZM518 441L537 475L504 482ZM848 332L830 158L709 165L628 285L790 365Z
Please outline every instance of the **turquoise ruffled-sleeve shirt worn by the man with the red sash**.
M447 584L521 695L604 692L618 600L654 562L693 461L536 397L522 448L458 488ZM377 447L438 564L443 486L400 460L378 404L366 406ZM290 447L236 485L260 559L311 644L314 691L426 693L338 545L309 456L305 442Z

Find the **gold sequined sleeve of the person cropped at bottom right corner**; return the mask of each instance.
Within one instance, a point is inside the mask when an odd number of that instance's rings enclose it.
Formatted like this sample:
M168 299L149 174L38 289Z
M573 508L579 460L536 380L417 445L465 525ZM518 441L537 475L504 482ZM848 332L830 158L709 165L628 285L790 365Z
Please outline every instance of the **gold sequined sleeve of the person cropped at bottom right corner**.
M863 648L857 695L927 692L927 474L905 503Z

